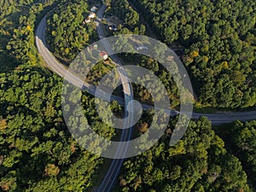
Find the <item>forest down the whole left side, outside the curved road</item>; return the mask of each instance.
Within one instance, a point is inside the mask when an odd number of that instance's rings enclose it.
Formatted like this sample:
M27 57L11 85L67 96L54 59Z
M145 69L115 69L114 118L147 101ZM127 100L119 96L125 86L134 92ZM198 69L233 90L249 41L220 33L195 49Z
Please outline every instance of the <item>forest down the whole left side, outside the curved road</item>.
M61 112L62 79L42 66L34 45L37 21L53 3L25 3L26 10L14 1L1 15L1 191L87 191L105 161L71 137ZM86 101L89 110L94 99Z

